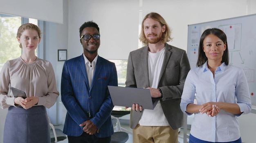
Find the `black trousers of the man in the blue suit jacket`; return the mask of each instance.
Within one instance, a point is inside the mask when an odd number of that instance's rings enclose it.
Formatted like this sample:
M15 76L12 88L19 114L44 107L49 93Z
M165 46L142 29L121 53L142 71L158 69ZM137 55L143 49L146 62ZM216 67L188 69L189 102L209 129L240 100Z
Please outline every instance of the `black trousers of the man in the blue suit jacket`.
M68 143L110 143L111 136L106 138L98 138L94 134L90 135L86 132L79 137L67 136Z

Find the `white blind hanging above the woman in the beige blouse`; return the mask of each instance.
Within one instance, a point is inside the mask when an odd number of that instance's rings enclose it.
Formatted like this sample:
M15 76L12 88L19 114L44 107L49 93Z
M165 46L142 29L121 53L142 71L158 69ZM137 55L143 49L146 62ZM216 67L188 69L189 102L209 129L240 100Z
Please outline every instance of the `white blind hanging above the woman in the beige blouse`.
M63 0L0 0L0 13L63 24Z

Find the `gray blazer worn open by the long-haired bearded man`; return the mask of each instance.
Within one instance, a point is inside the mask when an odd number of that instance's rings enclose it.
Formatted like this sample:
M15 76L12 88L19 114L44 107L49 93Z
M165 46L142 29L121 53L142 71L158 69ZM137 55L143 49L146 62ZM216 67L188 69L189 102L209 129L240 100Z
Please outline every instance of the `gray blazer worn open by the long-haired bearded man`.
M162 90L160 99L164 115L173 130L183 123L183 113L180 109L181 95L186 76L190 70L186 51L165 43L164 62L160 72L158 88ZM148 79L148 46L132 51L128 57L126 87L149 87ZM130 128L139 123L143 111L131 111Z

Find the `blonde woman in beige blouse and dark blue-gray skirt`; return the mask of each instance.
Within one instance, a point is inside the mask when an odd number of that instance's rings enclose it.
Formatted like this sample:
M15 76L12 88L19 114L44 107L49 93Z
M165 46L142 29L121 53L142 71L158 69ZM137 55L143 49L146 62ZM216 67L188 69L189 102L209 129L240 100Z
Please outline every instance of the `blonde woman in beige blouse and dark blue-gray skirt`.
M50 143L46 108L58 98L52 64L36 57L41 31L23 24L17 32L22 55L7 61L0 73L0 107L8 108L3 143ZM27 98L9 95L9 87L24 91Z

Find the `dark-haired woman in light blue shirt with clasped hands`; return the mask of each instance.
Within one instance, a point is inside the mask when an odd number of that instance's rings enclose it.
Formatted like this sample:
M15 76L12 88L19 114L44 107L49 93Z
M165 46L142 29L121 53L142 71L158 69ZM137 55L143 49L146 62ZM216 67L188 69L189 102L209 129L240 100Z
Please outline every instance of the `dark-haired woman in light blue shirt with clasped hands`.
M186 77L180 107L187 115L194 113L189 143L242 143L237 116L251 112L251 98L243 69L229 65L222 30L203 32L197 67Z

